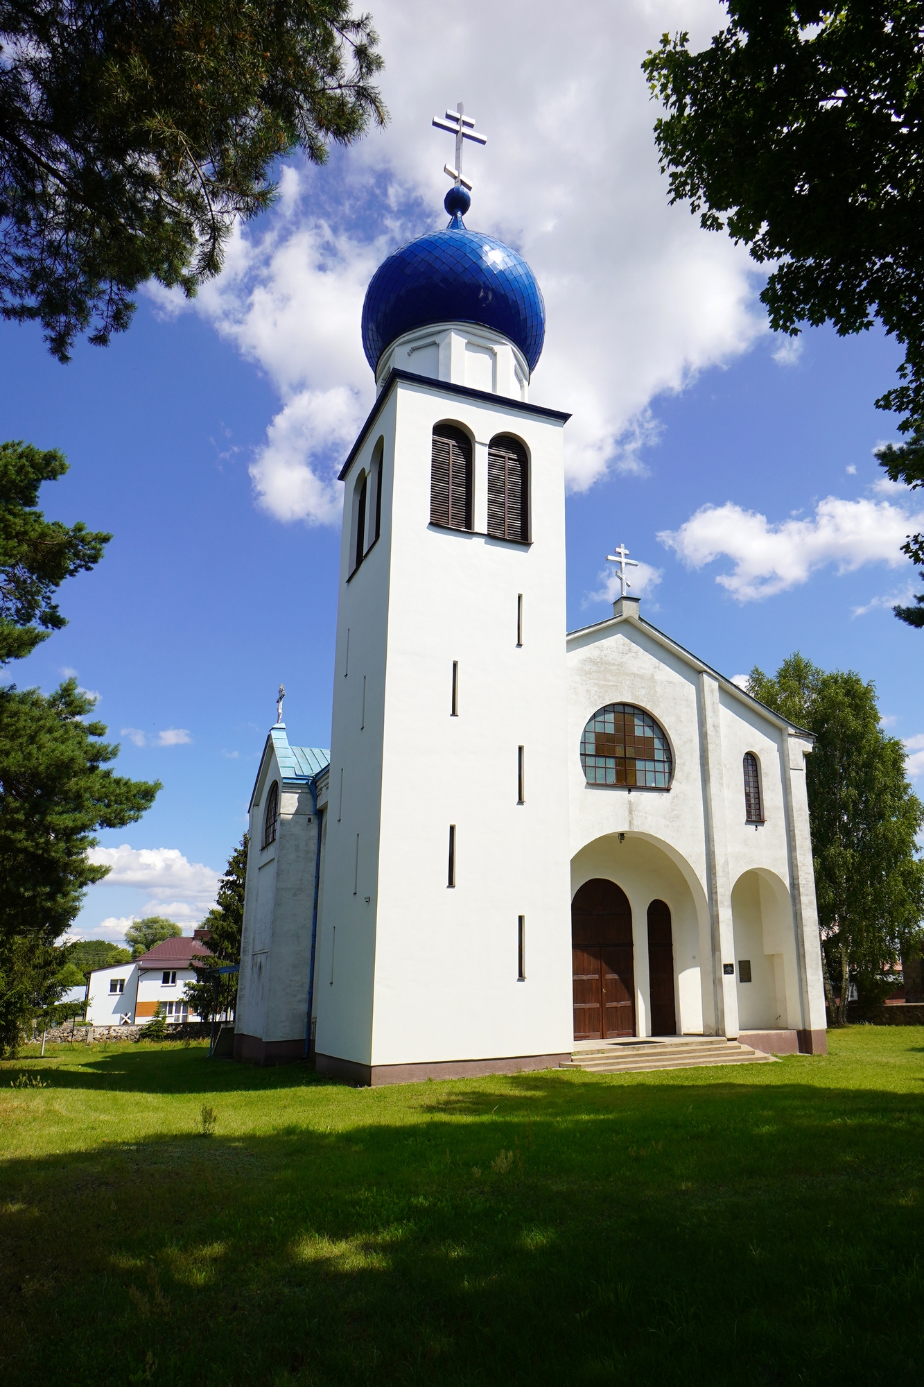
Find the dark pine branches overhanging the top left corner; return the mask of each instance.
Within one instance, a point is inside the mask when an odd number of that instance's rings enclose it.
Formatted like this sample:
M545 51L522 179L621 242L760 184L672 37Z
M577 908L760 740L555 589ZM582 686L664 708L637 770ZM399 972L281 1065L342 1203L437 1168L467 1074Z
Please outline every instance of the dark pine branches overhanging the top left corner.
M384 122L377 42L348 0L0 0L0 311L67 361L194 294L280 155Z

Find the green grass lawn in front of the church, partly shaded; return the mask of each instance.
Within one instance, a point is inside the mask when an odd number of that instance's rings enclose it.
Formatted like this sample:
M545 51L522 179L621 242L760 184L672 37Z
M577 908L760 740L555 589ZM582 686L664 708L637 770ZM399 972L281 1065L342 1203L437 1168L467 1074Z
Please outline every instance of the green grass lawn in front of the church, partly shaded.
M28 1049L0 1381L917 1384L924 1031L830 1044L376 1090Z

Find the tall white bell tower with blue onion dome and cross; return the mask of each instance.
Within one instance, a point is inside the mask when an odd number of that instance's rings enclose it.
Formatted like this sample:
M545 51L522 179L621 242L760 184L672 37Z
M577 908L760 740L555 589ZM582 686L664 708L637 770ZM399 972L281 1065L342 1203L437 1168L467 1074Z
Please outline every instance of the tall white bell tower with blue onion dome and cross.
M541 1068L573 1037L569 416L526 398L541 294L463 226L458 164L450 226L369 286L379 395L341 472L315 1058L365 1083Z

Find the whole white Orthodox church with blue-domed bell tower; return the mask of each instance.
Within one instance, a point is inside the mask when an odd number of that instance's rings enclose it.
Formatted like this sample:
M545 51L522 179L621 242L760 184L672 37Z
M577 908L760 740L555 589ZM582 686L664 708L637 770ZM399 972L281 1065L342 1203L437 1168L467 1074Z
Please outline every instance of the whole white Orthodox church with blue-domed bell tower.
M626 592L566 635L563 434L526 262L445 230L376 270L340 472L330 750L282 703L250 804L234 1057L354 1083L587 1042L825 1049L805 757ZM626 551L620 548L626 570Z

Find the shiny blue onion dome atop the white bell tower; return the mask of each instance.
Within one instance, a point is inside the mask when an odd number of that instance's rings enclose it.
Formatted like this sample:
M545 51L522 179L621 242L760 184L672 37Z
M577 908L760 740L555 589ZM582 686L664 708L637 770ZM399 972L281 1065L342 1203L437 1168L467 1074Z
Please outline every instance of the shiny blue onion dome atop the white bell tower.
M470 197L451 187L452 218L390 255L369 282L362 305L362 347L376 370L395 338L430 323L477 323L501 333L523 352L530 372L542 354L545 304L526 261L495 236L469 232L462 222Z

